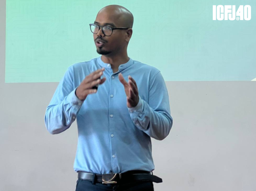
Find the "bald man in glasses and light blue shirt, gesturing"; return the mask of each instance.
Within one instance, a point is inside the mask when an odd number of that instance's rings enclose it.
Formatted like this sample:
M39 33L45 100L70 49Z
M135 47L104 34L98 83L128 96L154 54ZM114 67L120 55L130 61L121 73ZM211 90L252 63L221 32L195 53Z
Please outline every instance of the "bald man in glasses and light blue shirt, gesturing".
M150 191L162 182L152 173L151 137L171 130L168 91L158 69L127 56L132 25L123 6L102 8L90 24L102 56L71 65L47 106L51 134L77 119L76 191Z

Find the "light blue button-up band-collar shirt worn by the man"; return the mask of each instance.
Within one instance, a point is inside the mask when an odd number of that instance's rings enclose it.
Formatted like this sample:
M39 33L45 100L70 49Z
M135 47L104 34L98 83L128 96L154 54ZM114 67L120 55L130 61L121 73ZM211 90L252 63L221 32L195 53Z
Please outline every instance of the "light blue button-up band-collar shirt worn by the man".
M90 73L104 67L106 81L84 101L76 88ZM155 67L130 60L113 73L101 56L68 67L45 112L49 133L58 134L77 121L78 144L74 170L96 174L153 171L151 137L162 140L169 134L173 119L165 80ZM139 103L127 107L121 72L128 82L137 83Z

